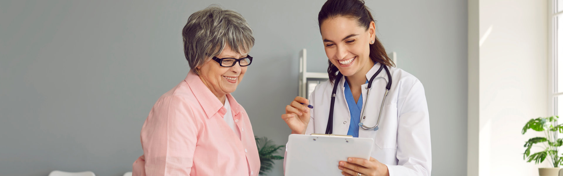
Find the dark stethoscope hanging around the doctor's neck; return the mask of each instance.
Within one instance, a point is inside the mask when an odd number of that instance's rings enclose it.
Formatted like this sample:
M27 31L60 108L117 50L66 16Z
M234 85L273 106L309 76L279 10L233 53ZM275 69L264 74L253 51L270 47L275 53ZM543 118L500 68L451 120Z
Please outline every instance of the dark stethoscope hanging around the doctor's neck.
M364 116L365 109L367 109L368 107L367 103L369 100L369 90L371 90L372 88L373 79L377 77L377 75L379 74L379 72L381 72L383 68L385 68L385 72L387 72L387 78L389 79L389 81L387 82L387 86L385 86L385 95L383 96L383 100L381 101L381 108L379 108L379 116L377 117L377 124L376 126L372 126L372 127L365 126L363 121L365 119ZM334 115L334 99L336 99L336 89L338 87L338 82L340 82L341 78L342 78L342 73L338 72L336 76L336 82L334 82L334 87L332 88L332 97L330 97L330 112L328 114L328 124L327 124L327 130L324 132L325 134L332 134L332 121L333 121L332 116ZM379 125L379 119L381 118L381 112L383 111L383 103L385 103L385 97L389 93L389 89L391 89L391 73L389 73L389 69L385 64L381 64L381 67L379 67L377 72L373 74L372 78L369 79L368 86L365 87L365 89L368 89L368 93L367 93L368 98L366 98L365 100L366 105L364 105L364 109L361 110L361 115L360 115L361 118L360 118L360 123L358 125L361 127L361 129L375 131L379 129L378 125Z

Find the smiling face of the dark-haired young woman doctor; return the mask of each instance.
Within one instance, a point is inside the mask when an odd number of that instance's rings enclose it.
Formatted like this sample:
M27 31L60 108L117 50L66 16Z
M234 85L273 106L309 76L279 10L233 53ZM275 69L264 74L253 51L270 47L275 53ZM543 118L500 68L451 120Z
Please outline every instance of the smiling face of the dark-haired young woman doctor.
M375 23L368 30L350 17L330 17L320 25L324 51L330 62L344 76L367 73L374 61L369 58L369 45L375 40Z

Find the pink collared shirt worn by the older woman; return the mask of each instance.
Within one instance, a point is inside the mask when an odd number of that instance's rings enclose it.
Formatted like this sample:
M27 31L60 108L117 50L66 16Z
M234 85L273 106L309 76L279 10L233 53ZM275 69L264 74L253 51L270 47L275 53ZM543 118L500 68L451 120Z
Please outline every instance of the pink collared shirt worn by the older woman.
M226 109L195 73L160 96L141 129L144 155L133 175L258 175L260 159L242 105L227 94L240 139Z

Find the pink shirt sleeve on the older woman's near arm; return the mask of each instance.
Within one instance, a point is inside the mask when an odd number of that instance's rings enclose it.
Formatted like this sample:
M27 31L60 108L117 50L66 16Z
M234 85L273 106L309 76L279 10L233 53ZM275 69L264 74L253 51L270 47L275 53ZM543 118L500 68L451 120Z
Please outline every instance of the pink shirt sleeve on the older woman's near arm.
M186 100L161 98L141 130L146 175L190 175L201 124Z

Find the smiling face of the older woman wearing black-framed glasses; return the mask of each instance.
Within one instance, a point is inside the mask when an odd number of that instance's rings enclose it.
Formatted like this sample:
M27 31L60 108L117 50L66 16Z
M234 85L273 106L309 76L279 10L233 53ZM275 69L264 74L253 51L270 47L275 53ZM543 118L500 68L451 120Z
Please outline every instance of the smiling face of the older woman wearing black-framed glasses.
M231 46L225 44L225 49L216 57L240 59L246 56L247 54L235 52L231 49ZM217 97L233 93L247 71L247 67L240 67L239 63L236 63L233 67L221 67L217 61L212 59L209 59L198 69L199 77L202 78L205 86Z

